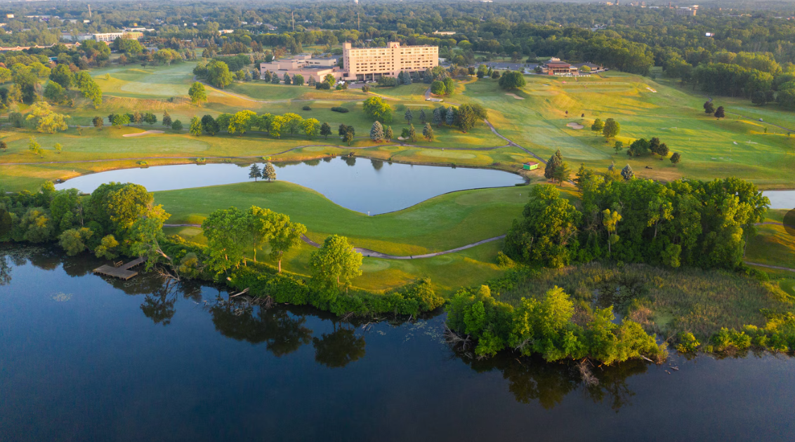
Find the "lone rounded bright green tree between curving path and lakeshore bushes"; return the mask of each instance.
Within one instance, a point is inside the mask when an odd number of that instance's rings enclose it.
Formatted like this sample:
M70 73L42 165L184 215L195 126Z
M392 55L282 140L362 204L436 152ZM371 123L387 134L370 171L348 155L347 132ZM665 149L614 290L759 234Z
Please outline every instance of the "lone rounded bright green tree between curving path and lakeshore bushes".
M351 286L351 281L362 275L362 254L356 252L344 236L326 237L323 245L312 252L309 268L312 282L330 298L340 288Z

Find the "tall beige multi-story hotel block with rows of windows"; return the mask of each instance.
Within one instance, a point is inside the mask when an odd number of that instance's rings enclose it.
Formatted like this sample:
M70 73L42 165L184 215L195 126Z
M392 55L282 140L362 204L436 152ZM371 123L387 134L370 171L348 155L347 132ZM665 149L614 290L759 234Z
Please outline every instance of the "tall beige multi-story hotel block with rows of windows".
M343 63L347 81L377 80L397 77L401 71L425 71L439 65L437 46L401 46L390 41L386 48L351 48L343 45Z

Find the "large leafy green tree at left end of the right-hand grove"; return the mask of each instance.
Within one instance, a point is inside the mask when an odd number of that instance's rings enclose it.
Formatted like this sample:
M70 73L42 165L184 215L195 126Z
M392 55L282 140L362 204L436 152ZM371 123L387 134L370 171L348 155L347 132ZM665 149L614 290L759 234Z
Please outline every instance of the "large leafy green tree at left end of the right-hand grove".
M571 262L579 244L581 214L549 184L533 186L521 220L506 236L505 253L521 263L559 268Z

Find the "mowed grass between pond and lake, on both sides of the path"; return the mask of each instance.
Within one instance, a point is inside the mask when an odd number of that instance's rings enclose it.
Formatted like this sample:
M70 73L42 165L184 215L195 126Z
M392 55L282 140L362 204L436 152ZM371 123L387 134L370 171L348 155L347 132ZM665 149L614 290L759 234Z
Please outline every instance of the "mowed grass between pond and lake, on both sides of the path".
M200 224L215 209L260 206L289 214L291 220L306 225L307 236L318 243L335 233L347 236L357 247L408 256L449 250L506 233L514 217L521 214L526 195L526 187L467 190L374 217L337 206L314 190L279 181L156 192L155 202L172 213L170 224ZM200 229L170 228L167 232L204 242ZM363 275L355 280L355 285L368 290L388 290L429 276L436 290L450 294L457 287L483 283L501 275L502 269L496 265L497 252L501 249L502 240L427 259L366 258ZM302 244L290 252L285 256L285 269L308 275L312 250Z

